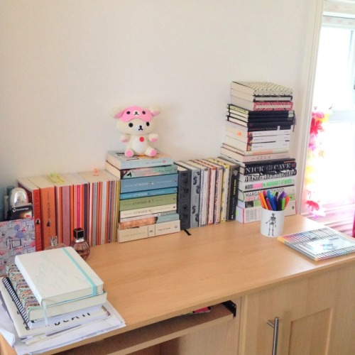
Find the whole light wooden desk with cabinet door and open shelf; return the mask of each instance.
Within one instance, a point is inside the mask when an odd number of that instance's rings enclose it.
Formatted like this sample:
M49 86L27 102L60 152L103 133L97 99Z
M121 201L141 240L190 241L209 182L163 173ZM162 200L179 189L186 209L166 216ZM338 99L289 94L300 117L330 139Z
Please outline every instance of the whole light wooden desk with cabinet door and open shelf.
M95 246L87 262L104 280L109 301L127 326L60 350L75 348L68 354L138 350L139 354L271 354L273 329L264 324L267 319L258 318L278 316L282 326L278 354L293 349L292 354L305 355L312 346L312 355L355 354L355 255L313 262L262 236L259 226L258 222L227 222L190 229L190 236L182 231ZM286 217L284 232L317 226L296 215ZM219 305L228 300L237 305L236 317ZM177 317L208 305L217 305L214 312ZM310 336L312 329L317 332ZM307 341L297 342L300 335ZM300 349L296 343L308 348ZM11 354L4 339L1 346Z

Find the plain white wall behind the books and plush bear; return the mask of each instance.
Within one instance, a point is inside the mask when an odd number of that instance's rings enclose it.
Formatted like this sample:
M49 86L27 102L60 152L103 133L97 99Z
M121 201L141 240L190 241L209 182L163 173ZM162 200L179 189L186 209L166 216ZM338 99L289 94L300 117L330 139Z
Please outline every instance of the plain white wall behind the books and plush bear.
M103 168L124 148L114 106L159 105L156 146L176 160L219 154L231 80L293 87L300 113L310 6L1 0L0 184Z

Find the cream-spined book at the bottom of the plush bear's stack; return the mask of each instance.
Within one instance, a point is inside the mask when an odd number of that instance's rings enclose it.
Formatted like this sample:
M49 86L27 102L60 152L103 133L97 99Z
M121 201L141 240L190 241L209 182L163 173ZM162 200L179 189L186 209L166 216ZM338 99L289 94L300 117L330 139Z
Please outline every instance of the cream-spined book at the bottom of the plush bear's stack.
M150 238L163 234L172 234L180 231L180 220L151 224L148 226L138 226L132 229L119 230L119 242L133 241L137 239Z

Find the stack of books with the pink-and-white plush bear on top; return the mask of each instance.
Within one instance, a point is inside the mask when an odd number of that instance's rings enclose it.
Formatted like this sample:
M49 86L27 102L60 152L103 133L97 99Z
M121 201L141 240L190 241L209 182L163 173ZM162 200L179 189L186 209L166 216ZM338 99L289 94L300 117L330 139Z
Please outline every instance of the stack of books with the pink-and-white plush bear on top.
M180 231L178 166L170 155L126 158L109 151L105 168L121 181L118 241Z

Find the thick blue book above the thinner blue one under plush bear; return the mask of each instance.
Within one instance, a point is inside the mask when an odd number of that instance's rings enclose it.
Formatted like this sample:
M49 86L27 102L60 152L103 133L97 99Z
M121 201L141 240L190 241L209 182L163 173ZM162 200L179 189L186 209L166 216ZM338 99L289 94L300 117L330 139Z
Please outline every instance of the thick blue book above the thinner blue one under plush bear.
M178 173L121 180L121 194L166 187L178 187Z

